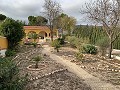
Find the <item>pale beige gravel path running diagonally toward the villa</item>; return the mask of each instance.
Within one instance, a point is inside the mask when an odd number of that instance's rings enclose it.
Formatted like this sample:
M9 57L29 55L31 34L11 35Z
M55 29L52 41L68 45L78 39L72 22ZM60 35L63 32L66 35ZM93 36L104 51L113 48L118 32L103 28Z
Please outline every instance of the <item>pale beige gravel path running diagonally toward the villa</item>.
M69 60L64 60L60 56L52 54L48 45L44 45L43 47L44 49L42 53L50 55L51 59L55 60L57 63L61 63L62 65L66 66L69 71L75 73L78 77L84 79L84 82L90 85L92 90L119 90L112 84L106 83L105 81L101 81L99 78L92 76L91 74L87 73L85 70L83 70L76 64L70 62Z

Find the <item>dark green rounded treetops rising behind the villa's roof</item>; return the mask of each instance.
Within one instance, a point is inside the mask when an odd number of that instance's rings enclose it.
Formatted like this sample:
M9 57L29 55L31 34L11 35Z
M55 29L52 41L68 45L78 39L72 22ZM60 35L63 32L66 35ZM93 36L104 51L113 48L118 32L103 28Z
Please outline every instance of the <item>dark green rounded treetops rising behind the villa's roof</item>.
M41 25L46 25L48 20L42 16L29 16L28 17L29 20L29 25L36 25L36 26L41 26Z

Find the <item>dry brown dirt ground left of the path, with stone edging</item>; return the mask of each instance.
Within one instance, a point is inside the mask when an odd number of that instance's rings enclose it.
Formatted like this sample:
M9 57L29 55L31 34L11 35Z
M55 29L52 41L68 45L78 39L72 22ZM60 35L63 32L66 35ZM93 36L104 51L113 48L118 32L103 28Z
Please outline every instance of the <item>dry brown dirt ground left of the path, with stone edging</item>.
M13 59L20 69L20 76L28 74L29 82L24 90L91 90L83 79L66 70L48 55L43 55L41 50L42 48L24 46ZM44 64L45 67L29 70L27 67L35 63L32 58L38 55L43 57L39 64ZM61 69L62 71L59 71Z

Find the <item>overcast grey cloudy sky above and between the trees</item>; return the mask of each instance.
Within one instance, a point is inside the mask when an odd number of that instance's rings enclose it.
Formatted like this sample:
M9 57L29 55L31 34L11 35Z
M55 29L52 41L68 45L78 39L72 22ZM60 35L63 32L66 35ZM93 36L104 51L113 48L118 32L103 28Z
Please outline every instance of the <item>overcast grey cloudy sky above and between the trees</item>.
M56 0L64 13L77 19L77 24L87 24L80 14L80 8L89 0ZM0 0L0 14L15 20L27 22L28 16L40 16L43 12L44 0Z

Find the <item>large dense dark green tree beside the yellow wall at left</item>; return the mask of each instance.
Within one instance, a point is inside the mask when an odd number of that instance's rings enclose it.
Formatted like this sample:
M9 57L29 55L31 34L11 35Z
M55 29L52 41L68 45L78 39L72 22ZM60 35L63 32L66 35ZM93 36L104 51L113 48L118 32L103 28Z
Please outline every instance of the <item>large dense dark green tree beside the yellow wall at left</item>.
M5 37L7 37L9 49L14 49L25 34L22 23L10 18L7 18L2 23L2 33Z

